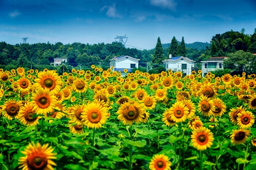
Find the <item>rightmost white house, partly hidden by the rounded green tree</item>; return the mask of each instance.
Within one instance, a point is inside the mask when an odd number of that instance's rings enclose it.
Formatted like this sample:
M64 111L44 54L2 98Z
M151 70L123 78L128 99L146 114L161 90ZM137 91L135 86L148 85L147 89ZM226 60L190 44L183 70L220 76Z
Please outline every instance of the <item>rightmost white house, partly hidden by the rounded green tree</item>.
M202 76L207 75L208 72L216 69L224 69L223 61L228 57L210 57L207 61L201 61L202 63Z

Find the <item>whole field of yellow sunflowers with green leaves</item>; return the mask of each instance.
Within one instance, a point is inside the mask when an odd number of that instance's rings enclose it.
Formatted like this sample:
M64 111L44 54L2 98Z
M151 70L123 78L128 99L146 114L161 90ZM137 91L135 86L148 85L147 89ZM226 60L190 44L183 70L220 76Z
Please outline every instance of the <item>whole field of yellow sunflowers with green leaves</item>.
M255 169L255 74L0 69L0 169Z

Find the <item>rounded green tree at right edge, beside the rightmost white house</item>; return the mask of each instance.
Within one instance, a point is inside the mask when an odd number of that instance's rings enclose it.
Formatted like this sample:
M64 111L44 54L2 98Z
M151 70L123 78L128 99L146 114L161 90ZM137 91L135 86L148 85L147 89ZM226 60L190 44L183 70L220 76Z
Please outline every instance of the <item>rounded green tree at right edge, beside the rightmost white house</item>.
M228 59L224 60L224 67L233 71L238 71L240 74L243 71L255 71L255 56L249 52L239 50L228 55Z

